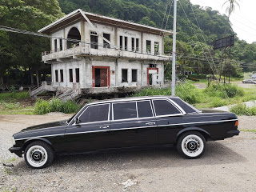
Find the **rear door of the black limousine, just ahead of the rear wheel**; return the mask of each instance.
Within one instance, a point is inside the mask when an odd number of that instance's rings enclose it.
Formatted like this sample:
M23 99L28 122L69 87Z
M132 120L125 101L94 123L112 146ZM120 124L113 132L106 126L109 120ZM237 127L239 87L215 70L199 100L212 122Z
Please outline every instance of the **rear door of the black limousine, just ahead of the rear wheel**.
M155 118L158 124L158 143L174 143L182 128L182 118L186 114L176 103L166 98L153 99Z

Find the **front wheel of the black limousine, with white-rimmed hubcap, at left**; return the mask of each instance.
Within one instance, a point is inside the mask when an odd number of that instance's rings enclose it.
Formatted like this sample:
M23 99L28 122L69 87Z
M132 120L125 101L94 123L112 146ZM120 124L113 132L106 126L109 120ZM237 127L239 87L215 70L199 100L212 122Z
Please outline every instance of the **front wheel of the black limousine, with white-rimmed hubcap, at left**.
M42 169L54 161L54 150L46 142L31 142L24 152L25 162L34 169Z

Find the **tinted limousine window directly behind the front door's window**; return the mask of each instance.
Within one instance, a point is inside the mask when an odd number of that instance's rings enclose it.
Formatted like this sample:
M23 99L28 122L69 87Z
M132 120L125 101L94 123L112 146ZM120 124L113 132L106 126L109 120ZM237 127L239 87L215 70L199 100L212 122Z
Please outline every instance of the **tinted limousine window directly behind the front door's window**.
M136 102L114 103L114 120L137 118Z

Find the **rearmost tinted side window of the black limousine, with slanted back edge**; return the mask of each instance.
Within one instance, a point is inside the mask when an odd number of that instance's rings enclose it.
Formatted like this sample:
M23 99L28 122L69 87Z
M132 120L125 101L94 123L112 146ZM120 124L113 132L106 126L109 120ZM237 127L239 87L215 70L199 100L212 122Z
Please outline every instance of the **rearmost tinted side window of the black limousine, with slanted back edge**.
M166 100L154 100L154 110L156 115L181 114L181 112Z

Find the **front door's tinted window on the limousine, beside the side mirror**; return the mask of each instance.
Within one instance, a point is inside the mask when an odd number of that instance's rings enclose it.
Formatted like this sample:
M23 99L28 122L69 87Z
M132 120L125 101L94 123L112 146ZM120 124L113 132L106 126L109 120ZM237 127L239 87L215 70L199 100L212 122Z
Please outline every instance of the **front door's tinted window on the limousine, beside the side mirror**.
M80 122L107 121L109 116L109 104L89 106L80 116Z

